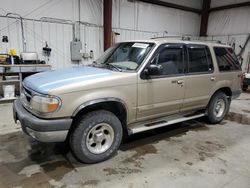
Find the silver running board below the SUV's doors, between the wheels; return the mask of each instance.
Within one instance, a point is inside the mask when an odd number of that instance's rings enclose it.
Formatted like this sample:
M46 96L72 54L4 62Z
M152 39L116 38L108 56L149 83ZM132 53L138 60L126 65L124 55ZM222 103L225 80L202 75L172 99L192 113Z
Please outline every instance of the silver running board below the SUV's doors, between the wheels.
M180 123L183 121L187 121L187 120L191 120L191 119L195 119L195 118L199 118L199 117L203 117L205 116L204 113L202 114L196 114L193 116L179 116L175 119L160 119L158 121L155 122L151 122L151 123L145 123L145 124L135 124L135 125L131 125L131 127L129 128L129 132L131 134L135 134L135 133L139 133L139 132L143 132L143 131L148 131L151 129L155 129L155 128L160 128L160 127L164 127L164 126L168 126L168 125L172 125L175 123Z

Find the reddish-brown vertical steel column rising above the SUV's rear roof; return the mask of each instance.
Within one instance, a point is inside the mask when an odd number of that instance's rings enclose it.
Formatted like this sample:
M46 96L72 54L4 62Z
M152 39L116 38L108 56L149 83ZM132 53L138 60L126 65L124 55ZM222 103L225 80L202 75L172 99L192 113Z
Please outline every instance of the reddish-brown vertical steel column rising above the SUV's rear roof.
M207 36L210 4L211 0L203 0L201 11L200 36Z

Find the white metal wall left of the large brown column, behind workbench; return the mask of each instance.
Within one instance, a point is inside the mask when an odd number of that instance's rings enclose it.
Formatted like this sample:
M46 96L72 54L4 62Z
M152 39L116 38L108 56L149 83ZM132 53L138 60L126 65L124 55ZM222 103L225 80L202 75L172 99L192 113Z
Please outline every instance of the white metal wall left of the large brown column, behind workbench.
M50 22L40 19L49 17L70 22L78 21L78 0L0 0L0 3L0 15L4 16L12 12L29 18L23 20L27 51L38 52L40 59L43 60L42 48L47 41L52 48L49 64L53 68L75 65L70 59L70 41L73 39L72 25L58 23L53 19ZM95 57L98 57L103 51L102 0L81 0L80 8L83 22L80 36L83 49L86 49L87 52L93 50ZM97 26L85 26L85 22ZM15 48L18 54L23 51L20 19L0 17L0 37L3 35L9 37L8 49ZM5 49L6 45L0 42L0 51L5 51Z

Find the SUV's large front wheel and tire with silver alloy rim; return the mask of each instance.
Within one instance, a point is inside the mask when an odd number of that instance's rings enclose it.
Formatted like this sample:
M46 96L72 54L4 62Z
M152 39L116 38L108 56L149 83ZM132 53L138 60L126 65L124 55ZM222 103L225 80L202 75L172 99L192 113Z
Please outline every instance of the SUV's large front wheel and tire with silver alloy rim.
M98 110L83 116L70 135L70 147L83 163L97 163L111 158L122 141L120 120L111 112Z

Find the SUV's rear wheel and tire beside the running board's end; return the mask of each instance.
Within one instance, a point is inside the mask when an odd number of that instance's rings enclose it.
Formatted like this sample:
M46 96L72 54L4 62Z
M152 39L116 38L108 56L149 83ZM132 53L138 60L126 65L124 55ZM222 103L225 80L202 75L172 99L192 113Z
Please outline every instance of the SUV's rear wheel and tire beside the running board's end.
M215 93L207 107L209 123L220 123L229 111L230 100L224 92Z

